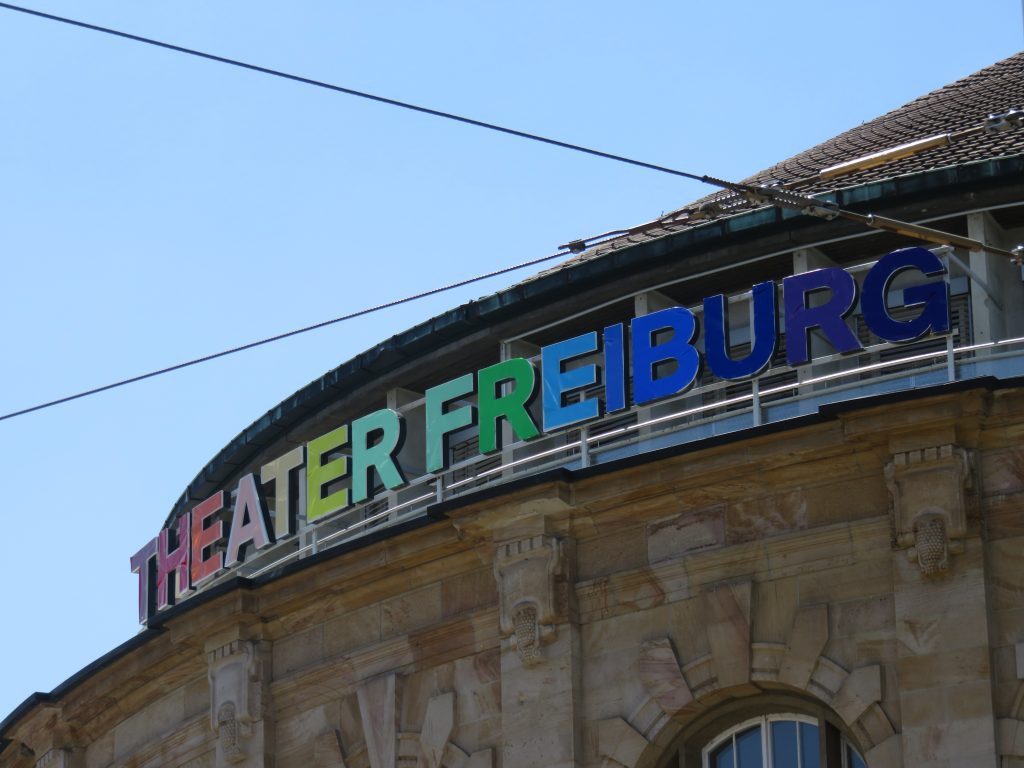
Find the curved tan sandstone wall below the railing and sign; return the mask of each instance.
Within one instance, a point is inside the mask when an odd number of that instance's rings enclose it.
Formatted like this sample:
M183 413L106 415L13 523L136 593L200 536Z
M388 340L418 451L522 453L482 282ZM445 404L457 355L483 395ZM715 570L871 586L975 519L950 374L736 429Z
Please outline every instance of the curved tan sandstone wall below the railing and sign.
M751 714L1024 766L1024 391L579 473L171 618L0 767L660 767Z

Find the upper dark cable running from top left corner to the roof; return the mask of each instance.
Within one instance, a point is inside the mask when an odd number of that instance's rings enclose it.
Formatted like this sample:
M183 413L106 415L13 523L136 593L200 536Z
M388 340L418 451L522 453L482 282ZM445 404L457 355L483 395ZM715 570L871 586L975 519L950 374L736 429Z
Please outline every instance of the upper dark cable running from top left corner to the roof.
M27 13L29 15L38 16L40 18L46 18L51 22L59 22L60 24L67 24L73 27L80 27L84 30L100 32L104 35L113 35L114 37L120 37L126 40L134 40L137 43L155 45L158 48L165 48L167 50L173 50L178 53L185 53L189 56L197 56L199 58L206 58L211 61L218 61L220 63L229 65L231 67L238 67L243 70L259 72L262 73L263 75L270 75L276 78L284 78L285 80L291 80L296 83L312 85L315 86L316 88L325 88L330 91L335 91L336 93L344 93L349 96L365 98L370 101L377 101L379 103L388 104L390 106L397 106L402 110L418 112L423 115L431 115L435 118L442 118L444 120L454 120L458 123L464 123L466 125L471 125L476 128L484 128L488 131L497 131L498 133L505 133L509 136L517 136L518 138L524 138L530 141L539 141L544 144L550 144L551 146L559 146L563 150L580 152L584 153L585 155L592 155L597 158L604 158L605 160L613 160L616 163L626 163L627 165L636 166L638 168L646 168L651 171L658 171L659 173L668 173L672 176L681 176L682 178L688 178L694 181L702 181L703 183L713 184L715 186L721 186L720 183L716 183L715 179L707 175L687 173L686 171L679 171L676 170L675 168L669 168L664 165L657 165L655 163L647 163L643 160L627 158L623 155L614 155L613 153L602 152L601 150L593 150L591 147L583 146L581 144L573 144L568 141L560 141L555 138L548 138L547 136L541 136L537 133L528 133L526 131L520 131L515 128L507 128L502 125L497 125L495 123L487 123L483 120L476 120L474 118L467 118L462 115L456 115L451 112L433 110L429 106L421 106L419 104L410 103L409 101L399 101L398 99L395 98L388 98L387 96L379 96L374 93L368 93L367 91L355 90L354 88L347 88L341 85L334 85L333 83L327 83L323 80L313 80L312 78L302 77L301 75L293 75L288 72L282 72L281 70L270 69L269 67L260 67L259 65L249 63L248 61L241 61L237 58L218 56L215 53L206 53L205 51L196 50L195 48L185 48L184 46L181 45L174 45L173 43L165 43L161 40L155 40L153 38L142 37L141 35L133 35L129 32L122 32L120 30L111 29L110 27L100 27L98 25L88 24L87 22L79 22L74 18L68 18L67 16L58 16L53 13L44 13L41 10L33 10L32 8L25 8L19 5L11 5L10 3L0 2L0 8L6 8L7 10L17 11L18 13Z

